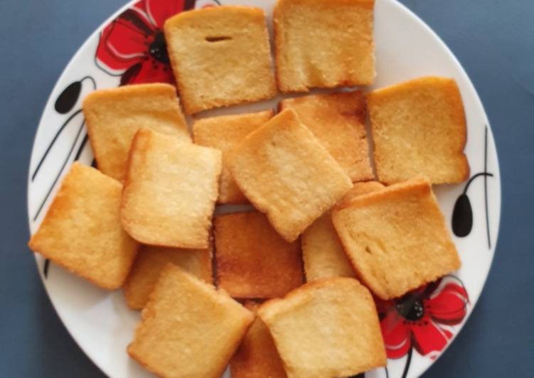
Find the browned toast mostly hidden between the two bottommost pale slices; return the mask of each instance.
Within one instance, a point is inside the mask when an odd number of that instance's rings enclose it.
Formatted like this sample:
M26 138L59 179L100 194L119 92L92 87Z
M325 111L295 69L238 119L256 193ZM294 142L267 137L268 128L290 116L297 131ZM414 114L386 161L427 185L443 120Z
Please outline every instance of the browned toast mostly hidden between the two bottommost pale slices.
M253 313L258 306L253 301L245 303ZM260 318L255 318L230 360L230 373L232 378L287 378L271 333Z

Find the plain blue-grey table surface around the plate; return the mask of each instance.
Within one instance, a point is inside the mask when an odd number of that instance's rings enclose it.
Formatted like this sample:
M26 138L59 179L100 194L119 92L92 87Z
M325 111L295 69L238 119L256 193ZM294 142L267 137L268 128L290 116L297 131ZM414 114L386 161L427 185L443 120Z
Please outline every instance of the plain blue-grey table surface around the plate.
M26 247L33 134L63 67L125 0L0 0L0 377L101 377ZM479 91L501 163L501 231L480 301L424 377L534 377L534 0L402 0Z

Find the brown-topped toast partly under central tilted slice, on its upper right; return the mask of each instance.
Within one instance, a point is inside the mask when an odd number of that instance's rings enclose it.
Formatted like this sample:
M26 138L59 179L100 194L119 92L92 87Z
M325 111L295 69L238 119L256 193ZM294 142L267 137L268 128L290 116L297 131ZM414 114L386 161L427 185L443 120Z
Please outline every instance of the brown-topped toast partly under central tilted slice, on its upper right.
M353 182L373 179L362 92L284 99L279 107L293 109L297 113L301 122L321 141Z

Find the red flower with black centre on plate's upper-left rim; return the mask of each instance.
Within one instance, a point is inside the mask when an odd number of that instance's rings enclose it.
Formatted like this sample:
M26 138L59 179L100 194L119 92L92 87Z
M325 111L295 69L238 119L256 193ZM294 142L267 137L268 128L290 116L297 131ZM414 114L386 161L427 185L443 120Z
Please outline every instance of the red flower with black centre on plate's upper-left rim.
M165 20L193 9L195 0L141 0L122 12L100 34L95 62L120 85L174 82L163 33Z

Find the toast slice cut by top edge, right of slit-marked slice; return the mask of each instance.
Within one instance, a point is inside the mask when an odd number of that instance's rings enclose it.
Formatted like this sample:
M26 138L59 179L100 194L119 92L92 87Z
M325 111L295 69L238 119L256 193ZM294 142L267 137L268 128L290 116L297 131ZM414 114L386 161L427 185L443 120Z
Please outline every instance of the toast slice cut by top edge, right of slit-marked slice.
M278 89L370 85L375 80L374 0L278 0Z

